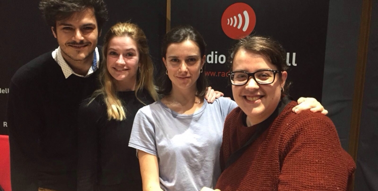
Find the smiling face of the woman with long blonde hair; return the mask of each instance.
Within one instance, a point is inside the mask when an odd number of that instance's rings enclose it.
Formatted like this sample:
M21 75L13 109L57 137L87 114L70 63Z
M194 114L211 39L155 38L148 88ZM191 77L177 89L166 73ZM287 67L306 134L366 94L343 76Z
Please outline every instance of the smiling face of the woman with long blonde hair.
M139 66L135 40L128 36L113 37L106 53L106 67L116 80L117 90L134 90Z

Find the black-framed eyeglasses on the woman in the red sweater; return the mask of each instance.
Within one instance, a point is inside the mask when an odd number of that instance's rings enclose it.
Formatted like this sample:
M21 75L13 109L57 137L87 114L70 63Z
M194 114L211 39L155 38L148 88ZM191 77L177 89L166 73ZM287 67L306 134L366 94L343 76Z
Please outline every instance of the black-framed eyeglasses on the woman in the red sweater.
M276 77L276 73L279 72L278 70L260 70L253 73L235 71L230 72L228 75L230 76L232 85L244 85L248 82L250 77L253 77L259 84L271 84Z

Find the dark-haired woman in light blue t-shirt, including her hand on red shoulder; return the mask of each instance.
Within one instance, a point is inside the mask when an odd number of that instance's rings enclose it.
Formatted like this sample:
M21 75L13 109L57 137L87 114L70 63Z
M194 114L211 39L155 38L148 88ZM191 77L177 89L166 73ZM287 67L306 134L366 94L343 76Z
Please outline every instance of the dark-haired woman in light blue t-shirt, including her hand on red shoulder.
M166 71L157 84L164 97L138 111L129 142L138 149L143 190L213 187L220 175L223 124L236 104L226 98L213 104L204 100L205 42L192 27L168 32L162 57ZM313 100L297 109L323 111Z

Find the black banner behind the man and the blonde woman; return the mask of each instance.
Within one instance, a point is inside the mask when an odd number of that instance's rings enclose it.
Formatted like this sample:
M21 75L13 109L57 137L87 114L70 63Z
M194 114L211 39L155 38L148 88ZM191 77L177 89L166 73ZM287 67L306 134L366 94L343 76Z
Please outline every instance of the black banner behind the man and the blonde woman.
M39 0L0 1L0 134L8 132L6 109L11 77L22 65L58 46L51 29L41 17L38 3ZM159 47L166 29L166 0L105 0L105 3L109 21L102 28L102 33L116 22L131 20L146 33L153 60L160 63ZM98 44L102 44L102 37L99 37Z

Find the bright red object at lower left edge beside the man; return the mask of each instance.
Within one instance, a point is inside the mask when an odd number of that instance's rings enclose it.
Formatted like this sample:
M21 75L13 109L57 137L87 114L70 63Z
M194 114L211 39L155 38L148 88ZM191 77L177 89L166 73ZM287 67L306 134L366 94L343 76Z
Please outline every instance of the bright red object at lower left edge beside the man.
M4 191L11 191L11 157L8 135L0 135L0 185Z

